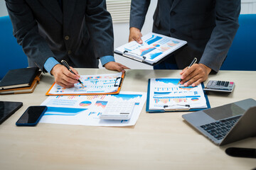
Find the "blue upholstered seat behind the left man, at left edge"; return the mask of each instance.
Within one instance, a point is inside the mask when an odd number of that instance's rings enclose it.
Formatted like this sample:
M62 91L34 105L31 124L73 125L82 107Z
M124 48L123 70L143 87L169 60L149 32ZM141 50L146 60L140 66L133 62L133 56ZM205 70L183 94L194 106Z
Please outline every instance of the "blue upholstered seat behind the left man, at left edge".
M0 80L9 69L28 67L28 59L13 35L9 16L0 17Z

